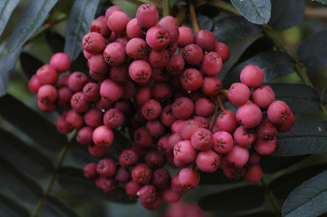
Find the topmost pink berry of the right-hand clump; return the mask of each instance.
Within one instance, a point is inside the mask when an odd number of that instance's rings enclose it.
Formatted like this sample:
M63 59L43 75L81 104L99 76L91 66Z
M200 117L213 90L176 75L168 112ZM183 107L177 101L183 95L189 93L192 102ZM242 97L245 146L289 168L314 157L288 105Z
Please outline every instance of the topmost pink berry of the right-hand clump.
M241 82L252 88L260 87L264 81L264 77L264 71L260 67L254 65L245 66L240 75Z

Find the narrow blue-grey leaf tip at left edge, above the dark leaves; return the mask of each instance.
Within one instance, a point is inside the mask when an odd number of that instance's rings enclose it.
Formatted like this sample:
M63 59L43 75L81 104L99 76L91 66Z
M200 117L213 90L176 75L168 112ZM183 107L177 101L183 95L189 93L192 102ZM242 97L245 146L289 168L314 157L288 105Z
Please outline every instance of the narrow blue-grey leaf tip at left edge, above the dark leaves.
M0 48L0 53L3 53L2 48L3 47ZM9 83L9 74L16 66L20 51L21 49L18 49L12 54L0 56L0 97L6 94Z

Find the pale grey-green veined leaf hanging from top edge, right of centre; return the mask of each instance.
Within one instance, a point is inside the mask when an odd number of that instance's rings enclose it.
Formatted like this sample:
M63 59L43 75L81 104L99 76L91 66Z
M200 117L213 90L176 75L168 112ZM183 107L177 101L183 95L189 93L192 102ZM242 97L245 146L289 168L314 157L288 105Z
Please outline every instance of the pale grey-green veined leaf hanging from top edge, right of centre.
M270 0L230 0L230 2L250 22L260 25L270 19Z

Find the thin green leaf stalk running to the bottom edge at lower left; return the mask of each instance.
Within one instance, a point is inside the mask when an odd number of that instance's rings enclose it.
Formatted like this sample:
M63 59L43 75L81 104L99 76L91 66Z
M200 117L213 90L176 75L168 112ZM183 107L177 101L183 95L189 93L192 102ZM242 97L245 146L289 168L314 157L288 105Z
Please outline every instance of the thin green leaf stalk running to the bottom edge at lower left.
M46 197L49 196L49 194L51 193L51 190L54 186L54 183L57 179L58 176L58 170L61 167L62 163L64 162L66 156L68 155L69 151L71 150L71 146L72 144L70 142L68 142L65 147L61 150L56 163L55 163L55 170L52 172L50 180L48 182L48 184L46 185L45 189L44 189L44 193L43 196L40 198L40 200L37 202L37 204L35 205L30 217L35 217L38 215L38 213L40 212L43 203L46 199Z

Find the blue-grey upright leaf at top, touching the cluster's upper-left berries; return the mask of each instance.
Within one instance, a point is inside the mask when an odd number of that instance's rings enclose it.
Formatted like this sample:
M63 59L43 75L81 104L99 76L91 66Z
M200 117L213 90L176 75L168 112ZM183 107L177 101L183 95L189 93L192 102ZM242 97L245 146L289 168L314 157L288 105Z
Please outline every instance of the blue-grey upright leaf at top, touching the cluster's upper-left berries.
M64 52L74 61L82 51L82 39L96 14L99 0L77 0L69 14Z

